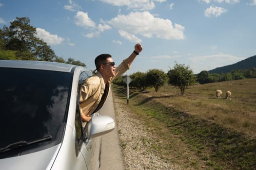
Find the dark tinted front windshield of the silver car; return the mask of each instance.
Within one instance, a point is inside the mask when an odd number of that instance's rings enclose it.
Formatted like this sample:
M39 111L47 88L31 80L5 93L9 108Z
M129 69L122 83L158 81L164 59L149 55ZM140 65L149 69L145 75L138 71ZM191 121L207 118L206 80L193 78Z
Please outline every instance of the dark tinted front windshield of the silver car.
M0 68L0 148L51 136L65 121L72 74Z

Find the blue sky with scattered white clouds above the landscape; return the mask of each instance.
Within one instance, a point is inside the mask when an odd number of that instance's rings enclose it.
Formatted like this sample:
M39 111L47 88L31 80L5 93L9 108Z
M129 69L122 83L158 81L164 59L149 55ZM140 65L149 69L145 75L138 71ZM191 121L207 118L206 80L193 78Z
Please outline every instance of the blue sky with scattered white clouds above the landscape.
M127 75L175 62L199 73L256 55L256 0L0 0L0 28L16 17L92 70L97 55L119 64L136 43L143 51Z

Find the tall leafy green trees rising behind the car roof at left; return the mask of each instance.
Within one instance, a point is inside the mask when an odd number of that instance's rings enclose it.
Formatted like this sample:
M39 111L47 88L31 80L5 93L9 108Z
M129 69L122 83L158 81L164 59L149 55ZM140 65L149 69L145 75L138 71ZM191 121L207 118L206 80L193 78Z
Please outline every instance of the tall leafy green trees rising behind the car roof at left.
M85 67L84 63L73 58L65 62L63 58L55 55L46 42L36 37L36 34L36 28L30 25L28 17L16 17L16 20L10 22L9 28L3 26L0 29L0 58L51 61Z

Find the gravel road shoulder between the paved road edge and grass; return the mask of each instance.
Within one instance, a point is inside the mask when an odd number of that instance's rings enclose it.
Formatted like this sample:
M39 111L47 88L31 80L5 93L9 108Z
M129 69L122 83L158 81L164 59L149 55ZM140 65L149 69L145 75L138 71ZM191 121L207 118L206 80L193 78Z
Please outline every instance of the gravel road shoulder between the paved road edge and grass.
M126 103L113 98L125 170L182 170L179 165L170 164L154 154L150 144L154 136L136 119Z

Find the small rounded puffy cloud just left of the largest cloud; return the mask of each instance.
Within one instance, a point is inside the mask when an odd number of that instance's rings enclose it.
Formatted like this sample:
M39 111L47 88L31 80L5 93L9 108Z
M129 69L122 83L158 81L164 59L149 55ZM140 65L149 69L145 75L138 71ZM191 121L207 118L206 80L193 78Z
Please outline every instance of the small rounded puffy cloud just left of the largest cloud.
M91 18L88 17L87 13L79 11L77 12L77 15L74 18L75 18L75 24L77 26L84 27L84 28L96 27L96 24L94 23L94 21L91 20Z

